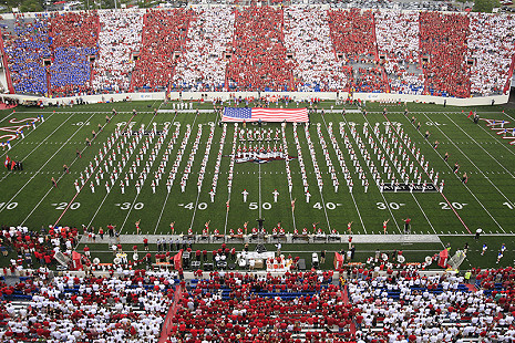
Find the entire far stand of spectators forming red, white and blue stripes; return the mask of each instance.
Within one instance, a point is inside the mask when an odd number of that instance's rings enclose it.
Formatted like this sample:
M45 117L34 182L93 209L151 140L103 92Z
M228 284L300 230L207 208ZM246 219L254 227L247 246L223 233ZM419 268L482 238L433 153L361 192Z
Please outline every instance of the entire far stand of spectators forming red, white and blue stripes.
M17 14L17 93L351 91L485 96L511 76L515 18L301 6Z

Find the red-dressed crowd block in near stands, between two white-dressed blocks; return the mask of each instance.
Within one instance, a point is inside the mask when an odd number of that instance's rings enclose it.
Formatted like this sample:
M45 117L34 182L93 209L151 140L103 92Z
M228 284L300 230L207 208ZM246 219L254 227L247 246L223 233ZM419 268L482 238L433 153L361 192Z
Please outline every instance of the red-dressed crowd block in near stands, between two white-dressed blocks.
M331 284L332 272L213 272L194 281L167 342L348 342L352 336L353 311Z

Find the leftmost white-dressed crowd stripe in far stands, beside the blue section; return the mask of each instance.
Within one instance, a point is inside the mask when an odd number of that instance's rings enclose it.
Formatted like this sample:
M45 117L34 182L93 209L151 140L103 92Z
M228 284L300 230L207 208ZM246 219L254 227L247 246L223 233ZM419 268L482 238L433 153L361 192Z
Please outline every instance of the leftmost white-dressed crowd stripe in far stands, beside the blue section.
M94 65L93 86L97 92L128 91L134 55L141 49L143 31L141 10L100 11L99 59Z

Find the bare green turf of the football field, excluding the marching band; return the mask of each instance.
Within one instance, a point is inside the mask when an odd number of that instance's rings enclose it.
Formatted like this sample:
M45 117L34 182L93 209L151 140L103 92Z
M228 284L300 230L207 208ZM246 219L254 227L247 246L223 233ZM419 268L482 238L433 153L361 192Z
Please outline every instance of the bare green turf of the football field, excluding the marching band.
M204 224L210 220L209 227L217 228L222 232L230 228L237 229L243 227L245 221L249 221L249 227L256 226L255 219L259 216L266 219L265 225L270 230L278 221L287 231L292 231L293 226L301 230L303 227L311 228L313 222L318 222L325 231L337 229L344 233L347 222L353 221L352 230L358 233L381 233L382 221L390 219L388 231L399 233L402 230L402 219L412 218L412 231L414 233L434 233L442 236L444 243L451 242L453 247L460 247L465 240L470 241L471 250L481 250L481 242L470 239L468 231L474 232L477 227L483 228L487 235L512 235L513 202L515 186L515 150L508 144L508 139L495 134L490 127L481 122L475 125L466 118L466 113L476 110L483 118L506 119L512 122L506 127L513 127L515 124L515 111L506 110L503 106L485 106L477 108L462 107L443 107L430 104L408 104L409 116L404 116L404 105L388 105L388 118L393 123L401 123L404 132L411 141L416 144L421 153L430 162L430 168L440 173L440 179L445 180L444 195L434 194L381 194L372 183L370 173L364 167L362 156L358 153L358 158L367 172L370 183L369 191L363 193L363 188L358 183L357 175L353 173L352 163L348 157L347 149L339 134L339 123L346 122L346 133L348 134L354 150L358 150L354 139L350 135L348 124L357 123L357 131L362 135L362 125L368 123L384 123L382 115L384 105L368 103L368 115L359 113L341 114L330 113L330 107L334 106L333 102L326 102L318 105L318 108L326 108L327 113L322 116L319 113L311 115L311 123L321 123L321 129L326 143L328 144L329 155L337 169L340 180L338 194L333 191L330 175L327 174L327 166L322 154L321 146L317 139L316 125L310 126L310 136L313 143L316 159L322 172L325 188L322 194L316 186L316 176L313 173L313 162L309 154L303 126L298 126L298 135L302 147L302 156L307 167L309 190L312 195L309 204L305 201L303 187L299 163L297 159L290 162L292 176L291 197L288 191L285 162L274 162L269 164L237 164L235 165L235 175L233 189L230 194L230 207L226 210L226 201L229 199L227 190L227 173L229 168L229 158L231 142L234 135L233 125L227 127L225 138L224 157L222 159L220 175L218 179L217 194L215 202L210 202L208 191L213 179L213 172L216 155L219 148L222 128L216 126L214 139L210 148L209 159L206 166L206 175L202 191L197 193L197 177L200 169L200 162L206 150L206 141L209 132L210 122L217 122L219 116L209 112L196 116L194 113L177 114L159 113L155 117L153 110L172 110L171 104L161 102L138 102L138 103L116 103L116 104L92 104L85 106L60 107L60 108L16 108L12 111L2 111L0 113L0 127L12 126L9 121L16 118L37 117L44 114L45 122L38 124L35 131L32 128L25 131L25 138L13 141L13 148L8 153L12 159L23 160L23 172L0 172L0 224L4 225L24 225L38 229L41 226L48 226L62 216L60 224L69 226L87 225L96 229L112 222L116 225L122 233L134 233L134 222L141 219L142 231L145 235L166 235L169 232L168 225L175 221L176 232L186 232L189 227L199 233ZM276 106L275 104L272 106ZM306 106L301 104L300 106ZM210 104L197 104L194 108L212 108ZM290 104L296 107L296 104ZM341 108L342 105L334 106ZM99 134L92 147L86 148L82 158L75 158L76 148L85 147L84 141L92 136L92 129L97 131L97 125L105 124L105 115L111 115L111 110L116 108L119 115L113 117L102 133ZM116 181L114 189L107 195L105 187L101 184L95 187L95 194L91 194L90 187L84 187L74 199L74 204L63 214L63 208L71 201L75 195L73 181L79 177L79 173L93 160L105 139L114 131L115 125L123 125L132 117L132 110L136 108L138 115L133 118L135 128L141 125L152 126L157 123L162 128L166 122L179 122L182 124L177 144L169 155L169 162L165 169L163 180L157 187L156 194L152 194L150 187L151 180L147 179L141 194L136 196L134 181L126 188L125 195L120 191L120 179ZM356 106L347 106L348 110L356 110ZM505 113L503 113L505 110ZM53 113L55 111L55 113ZM463 111L463 112L462 112ZM411 124L411 116L415 116L416 122L421 122L421 129L418 131ZM330 143L327 126L333 123L333 131L340 149L346 156L346 163L351 169L354 180L352 196L349 194L341 175L341 168L336 159L336 153ZM186 124L192 125L192 134L186 145L184 157L178 168L172 193L167 197L165 187L166 177L175 162L178 146L183 141ZM184 173L187 158L192 152L192 146L197 135L198 125L203 125L203 135L199 143L195 163L193 164L186 191L181 193L179 180ZM278 127L278 124L269 124L266 127ZM250 126L249 127L254 127ZM384 126L381 124L381 131ZM172 125L171 134L153 165L151 175L156 170L164 148L169 142L175 126ZM423 134L429 131L430 139L424 139ZM6 132L2 132L4 134ZM297 156L297 147L292 135L292 125L288 124L286 128L289 154ZM374 138L375 139L375 138ZM4 139L3 139L4 141ZM439 141L439 148L432 148L434 141ZM155 141L154 141L155 143ZM237 142L237 146L239 141ZM272 145L272 144L271 144ZM140 149L136 147L136 152ZM151 148L153 144L151 144ZM443 160L443 155L450 154L449 164ZM1 159L4 158L4 152L1 153ZM148 155L145 155L145 160ZM135 158L135 154L128 160L122 175L125 174L128 166ZM375 158L374 156L372 158ZM411 156L411 159L413 157ZM457 162L461 166L459 175L452 174L452 166ZM66 164L71 167L70 175L63 175L62 166ZM138 168L138 172L141 168ZM470 176L467 186L461 183L461 175L466 172ZM50 179L59 179L59 187L52 188ZM247 202L243 202L241 191L246 189L249 193ZM277 202L274 202L272 191L279 191ZM291 199L296 200L295 212L291 211ZM450 207L454 207L451 210ZM293 224L295 222L295 224ZM482 238L483 239L483 238ZM487 239L492 251L492 257L477 257L478 253L470 253L466 263L477 266L495 266L496 252L503 241L508 246L508 253L505 254L502 263L513 263L513 236L491 236ZM472 249L472 246L478 246ZM328 251L340 250L338 245L328 245ZM103 246L102 246L103 247ZM380 248L384 248L379 246ZM388 250L393 247L387 246ZM418 247L418 246L414 246ZM80 247L79 247L80 248ZM426 252L423 250L437 251L441 247L430 246L428 249L408 248L413 250L413 258L423 258ZM81 249L81 248L80 248ZM95 248L96 249L96 246ZM291 251L298 253L308 253L318 251L321 247L316 245L295 245ZM377 245L371 247L358 247L358 256L364 257L365 252L374 251ZM99 247L99 251L103 250ZM286 251L284 248L282 250ZM415 253L420 251L420 253ZM495 251L494 251L495 250ZM305 252L306 251L306 252ZM367 252L368 253L368 252ZM411 253L411 252L409 252ZM477 256L476 256L477 254ZM370 256L370 254L369 254Z

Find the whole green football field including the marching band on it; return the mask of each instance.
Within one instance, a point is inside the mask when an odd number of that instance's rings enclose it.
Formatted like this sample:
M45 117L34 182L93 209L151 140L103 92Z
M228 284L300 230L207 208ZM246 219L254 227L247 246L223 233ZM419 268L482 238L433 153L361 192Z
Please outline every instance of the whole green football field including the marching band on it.
M482 228L507 239L515 224L513 111L404 108L368 103L363 115L325 102L307 129L248 123L241 132L243 124L224 127L220 114L199 103L177 113L161 102L19 106L0 118L1 142L23 129L0 155L23 163L23 170L0 173L0 222L96 231L112 224L122 235L136 233L136 221L142 235L171 233L172 222L175 233L200 235L208 222L210 233L229 235L245 222L250 232L262 218L268 233L280 222L290 233L347 235L352 222L353 235L383 235L388 220L387 233L399 235L410 218L412 235L460 237ZM471 110L478 124L467 118Z

